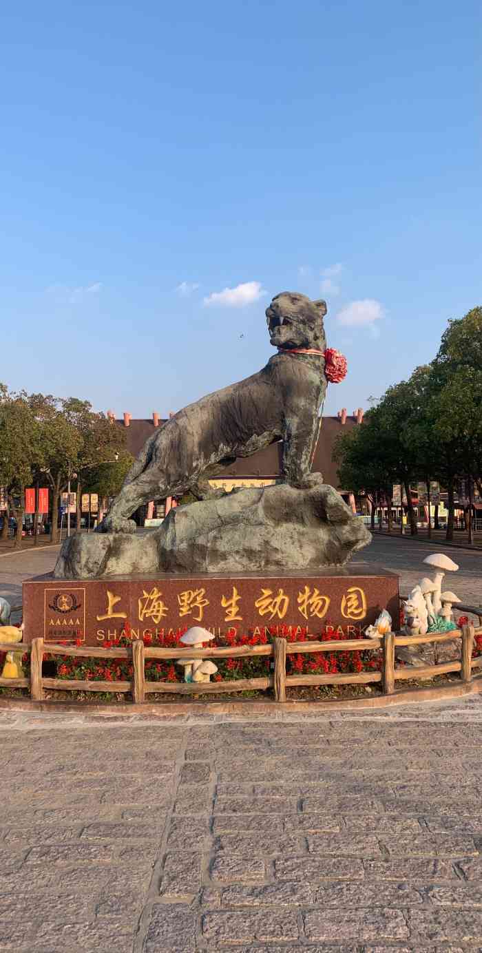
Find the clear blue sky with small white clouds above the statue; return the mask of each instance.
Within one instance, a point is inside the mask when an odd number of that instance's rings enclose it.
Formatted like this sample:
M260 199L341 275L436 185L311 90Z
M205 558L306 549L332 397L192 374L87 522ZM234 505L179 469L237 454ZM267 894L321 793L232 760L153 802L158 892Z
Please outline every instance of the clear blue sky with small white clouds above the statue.
M0 379L166 415L263 366L299 290L349 360L327 412L367 407L482 303L481 25L475 0L10 5Z

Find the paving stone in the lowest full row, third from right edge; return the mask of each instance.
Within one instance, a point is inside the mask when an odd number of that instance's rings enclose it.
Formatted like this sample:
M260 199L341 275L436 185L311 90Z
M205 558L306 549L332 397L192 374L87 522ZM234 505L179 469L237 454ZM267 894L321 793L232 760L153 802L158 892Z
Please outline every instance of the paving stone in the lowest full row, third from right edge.
M214 943L246 943L270 940L297 940L296 914L284 910L263 910L262 913L216 911L202 918L205 940Z

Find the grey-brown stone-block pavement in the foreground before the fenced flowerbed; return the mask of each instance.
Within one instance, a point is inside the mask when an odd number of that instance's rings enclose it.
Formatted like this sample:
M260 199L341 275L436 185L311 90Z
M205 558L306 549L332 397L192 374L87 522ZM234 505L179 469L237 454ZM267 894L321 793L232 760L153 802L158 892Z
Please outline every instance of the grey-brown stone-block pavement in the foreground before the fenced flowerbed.
M482 949L480 696L0 723L0 950Z

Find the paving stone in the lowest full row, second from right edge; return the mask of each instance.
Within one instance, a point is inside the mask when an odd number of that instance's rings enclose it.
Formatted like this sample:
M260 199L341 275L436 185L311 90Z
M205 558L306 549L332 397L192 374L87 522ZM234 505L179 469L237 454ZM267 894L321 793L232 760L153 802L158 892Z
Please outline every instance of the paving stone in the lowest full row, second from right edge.
M308 940L406 940L409 928L400 910L311 910L303 914Z

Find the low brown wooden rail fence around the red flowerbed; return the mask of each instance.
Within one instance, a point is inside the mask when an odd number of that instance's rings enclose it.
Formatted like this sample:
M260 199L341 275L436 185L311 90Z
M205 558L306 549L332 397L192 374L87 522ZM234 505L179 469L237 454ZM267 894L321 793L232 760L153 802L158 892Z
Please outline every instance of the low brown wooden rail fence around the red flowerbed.
M469 609L467 609L469 611ZM273 688L276 701L286 700L286 689L292 685L360 685L381 681L386 695L395 691L395 682L400 679L433 679L448 672L460 672L463 681L472 680L472 669L482 668L482 657L472 659L472 644L475 635L482 634L482 626L474 628L464 625L450 633L432 633L426 636L399 636L389 632L380 639L340 639L333 641L287 642L286 639L274 639L271 645L243 645L238 648L160 648L145 646L140 639L128 648L116 647L103 649L97 646L77 648L65 645L45 643L44 639L33 639L31 644L22 642L1 644L0 652L30 653L30 679L3 679L0 686L10 688L29 688L30 698L38 701L44 697L44 689L61 691L88 692L130 692L136 704L146 700L146 695L209 695L219 692L244 692ZM395 668L395 649L397 646L422 645L447 642L460 639L460 660L443 662L424 667L405 665ZM381 671L326 675L287 675L287 658L291 655L321 652L367 652L382 649ZM70 656L90 659L131 659L131 681L93 681L79 679L50 679L42 675L44 655ZM211 682L171 682L146 680L146 659L253 659L266 657L273 659L272 672L254 679L225 679Z

